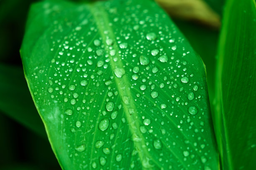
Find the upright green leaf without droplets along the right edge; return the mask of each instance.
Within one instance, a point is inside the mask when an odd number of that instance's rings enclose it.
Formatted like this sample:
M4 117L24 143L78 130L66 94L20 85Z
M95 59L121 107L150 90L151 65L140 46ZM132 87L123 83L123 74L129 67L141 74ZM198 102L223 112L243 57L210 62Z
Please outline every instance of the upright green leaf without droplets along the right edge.
M227 0L218 49L215 130L223 169L256 166L256 6Z

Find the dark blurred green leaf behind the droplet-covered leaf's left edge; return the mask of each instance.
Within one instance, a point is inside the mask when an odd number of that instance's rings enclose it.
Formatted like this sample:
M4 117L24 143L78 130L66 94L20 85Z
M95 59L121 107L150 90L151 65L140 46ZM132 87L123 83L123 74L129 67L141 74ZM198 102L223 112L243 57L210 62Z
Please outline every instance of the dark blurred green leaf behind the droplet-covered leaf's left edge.
M0 110L27 128L46 138L23 75L22 67L0 63Z

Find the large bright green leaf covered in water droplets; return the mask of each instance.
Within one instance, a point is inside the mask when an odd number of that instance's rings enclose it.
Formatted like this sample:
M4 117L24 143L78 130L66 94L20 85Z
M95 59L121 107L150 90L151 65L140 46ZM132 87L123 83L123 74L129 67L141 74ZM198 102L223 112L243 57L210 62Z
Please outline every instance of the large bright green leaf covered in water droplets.
M205 68L153 1L31 7L25 75L64 170L216 170Z

